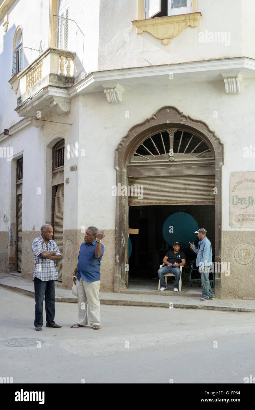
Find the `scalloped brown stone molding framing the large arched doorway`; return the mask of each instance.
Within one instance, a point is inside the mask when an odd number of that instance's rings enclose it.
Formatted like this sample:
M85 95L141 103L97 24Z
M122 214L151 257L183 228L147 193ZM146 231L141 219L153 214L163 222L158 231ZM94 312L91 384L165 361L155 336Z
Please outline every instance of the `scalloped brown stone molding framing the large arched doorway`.
M221 167L224 162L223 144L219 137L201 120L183 114L176 107L166 106L156 114L134 125L115 150L116 185L128 185L128 165L135 150L150 136L163 129L192 132L210 147L215 158L215 262L221 262ZM116 255L114 289L120 292L127 284L125 265L128 263L128 198L116 196ZM215 292L221 297L221 273L215 273Z

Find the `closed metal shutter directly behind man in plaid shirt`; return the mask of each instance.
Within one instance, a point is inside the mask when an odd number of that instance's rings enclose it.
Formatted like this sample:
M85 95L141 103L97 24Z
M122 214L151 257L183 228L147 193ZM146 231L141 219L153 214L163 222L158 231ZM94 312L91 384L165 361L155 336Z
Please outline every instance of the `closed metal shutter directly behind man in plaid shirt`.
M56 186L56 194L54 200L54 231L53 237L59 252L61 253L61 260L56 260L56 267L59 273L57 280L62 281L62 262L63 262L63 210L64 210L64 185Z

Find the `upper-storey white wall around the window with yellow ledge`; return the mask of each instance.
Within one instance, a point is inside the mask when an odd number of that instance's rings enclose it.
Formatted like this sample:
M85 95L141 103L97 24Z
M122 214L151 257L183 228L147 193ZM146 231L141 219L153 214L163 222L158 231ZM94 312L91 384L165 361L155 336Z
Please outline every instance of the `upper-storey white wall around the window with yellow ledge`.
M202 13L198 27L187 27L167 46L148 32L136 34L131 21L138 20L137 5L137 0L100 2L99 70L147 66L143 58L159 65L242 55L241 0L198 0L197 11ZM229 32L230 44L200 43L199 33L206 30ZM249 36L247 32L244 35Z

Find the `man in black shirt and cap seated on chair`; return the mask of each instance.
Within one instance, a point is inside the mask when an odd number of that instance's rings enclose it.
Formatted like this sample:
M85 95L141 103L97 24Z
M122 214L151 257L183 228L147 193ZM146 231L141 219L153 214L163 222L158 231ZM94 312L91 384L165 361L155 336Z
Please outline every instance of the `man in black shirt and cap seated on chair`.
M178 284L181 278L180 265L184 266L186 257L183 252L180 252L181 244L179 242L174 242L173 244L174 251L168 251L163 259L163 263L167 266L162 266L158 269L158 278L160 280L161 292L167 288L164 275L166 273L174 273L174 292L178 292Z

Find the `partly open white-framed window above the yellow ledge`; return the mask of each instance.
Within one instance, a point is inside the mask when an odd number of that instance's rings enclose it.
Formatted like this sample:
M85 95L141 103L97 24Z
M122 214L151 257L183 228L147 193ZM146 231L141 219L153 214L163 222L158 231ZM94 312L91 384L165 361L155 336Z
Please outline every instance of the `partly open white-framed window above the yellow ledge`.
M191 13L191 0L144 0L145 18Z

